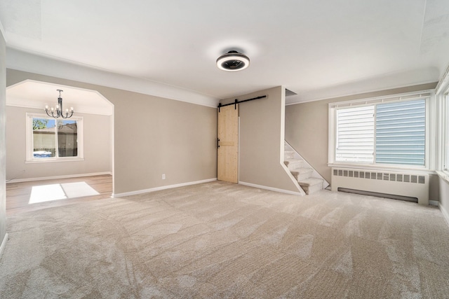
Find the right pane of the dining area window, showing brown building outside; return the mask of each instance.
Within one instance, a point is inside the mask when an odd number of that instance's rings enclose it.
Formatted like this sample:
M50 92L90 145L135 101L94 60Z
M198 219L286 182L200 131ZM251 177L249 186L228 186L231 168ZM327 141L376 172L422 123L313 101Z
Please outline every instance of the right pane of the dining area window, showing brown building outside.
M58 120L58 155L76 157L78 155L78 123L76 120Z

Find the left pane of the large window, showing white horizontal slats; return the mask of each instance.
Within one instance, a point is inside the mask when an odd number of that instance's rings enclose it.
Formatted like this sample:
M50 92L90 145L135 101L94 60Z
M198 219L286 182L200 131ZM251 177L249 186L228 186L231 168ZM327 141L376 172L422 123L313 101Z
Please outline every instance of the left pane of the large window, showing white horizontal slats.
M337 110L335 161L373 163L374 106Z

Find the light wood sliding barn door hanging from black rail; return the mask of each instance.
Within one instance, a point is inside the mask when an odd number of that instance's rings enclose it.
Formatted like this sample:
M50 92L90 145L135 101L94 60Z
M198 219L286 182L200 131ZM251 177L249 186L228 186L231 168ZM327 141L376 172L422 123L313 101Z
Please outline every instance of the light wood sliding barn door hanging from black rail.
M218 112L217 179L239 181L239 105L220 107Z

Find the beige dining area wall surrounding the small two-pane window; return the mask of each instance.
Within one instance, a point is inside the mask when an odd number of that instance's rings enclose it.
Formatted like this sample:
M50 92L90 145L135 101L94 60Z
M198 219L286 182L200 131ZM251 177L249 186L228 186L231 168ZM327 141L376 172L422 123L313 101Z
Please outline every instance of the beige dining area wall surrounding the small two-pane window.
M6 106L6 179L35 179L112 172L110 148L112 116L77 113L83 117L84 160L71 162L25 163L26 113L40 109Z

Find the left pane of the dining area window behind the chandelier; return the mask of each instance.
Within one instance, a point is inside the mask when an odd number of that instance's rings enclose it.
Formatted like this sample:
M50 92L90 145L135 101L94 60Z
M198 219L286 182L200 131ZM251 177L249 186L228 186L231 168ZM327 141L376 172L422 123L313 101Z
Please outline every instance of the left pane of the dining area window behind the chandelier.
M51 158L56 155L55 120L33 118L33 158Z

